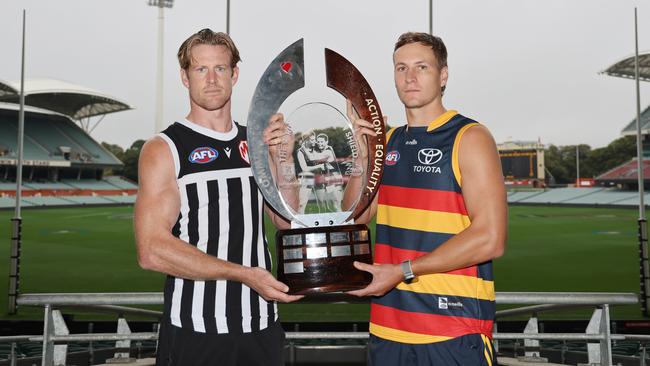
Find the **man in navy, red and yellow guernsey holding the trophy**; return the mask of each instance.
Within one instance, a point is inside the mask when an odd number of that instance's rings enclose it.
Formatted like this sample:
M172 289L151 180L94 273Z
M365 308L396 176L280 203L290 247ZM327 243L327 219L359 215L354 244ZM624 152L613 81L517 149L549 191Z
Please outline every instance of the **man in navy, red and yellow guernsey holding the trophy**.
M477 122L446 110L447 51L426 33L400 36L395 86L407 125L387 134L376 213L371 365L494 365L492 259L505 250L507 206L496 146ZM349 108L358 141L372 125ZM362 149L363 151L363 149Z

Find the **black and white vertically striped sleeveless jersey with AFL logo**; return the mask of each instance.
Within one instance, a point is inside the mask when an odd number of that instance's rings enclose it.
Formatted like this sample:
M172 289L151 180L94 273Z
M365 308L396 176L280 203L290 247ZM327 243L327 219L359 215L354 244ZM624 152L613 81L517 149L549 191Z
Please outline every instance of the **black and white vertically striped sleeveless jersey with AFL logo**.
M234 122L219 133L185 120L159 136L171 149L181 198L173 235L209 255L270 271L246 127ZM249 333L276 321L277 305L240 282L167 276L165 316L196 332Z

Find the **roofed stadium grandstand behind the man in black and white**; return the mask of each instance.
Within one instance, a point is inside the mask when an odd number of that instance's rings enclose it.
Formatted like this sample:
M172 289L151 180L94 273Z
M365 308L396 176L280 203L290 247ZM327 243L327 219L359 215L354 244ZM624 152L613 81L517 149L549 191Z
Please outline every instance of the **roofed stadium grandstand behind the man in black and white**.
M0 208L13 207L18 156L15 84L0 82ZM105 177L123 164L95 141L92 117L132 109L127 103L78 85L37 79L25 83L22 205L129 204L137 185ZM75 123L77 122L77 123ZM95 124L96 125L96 124Z

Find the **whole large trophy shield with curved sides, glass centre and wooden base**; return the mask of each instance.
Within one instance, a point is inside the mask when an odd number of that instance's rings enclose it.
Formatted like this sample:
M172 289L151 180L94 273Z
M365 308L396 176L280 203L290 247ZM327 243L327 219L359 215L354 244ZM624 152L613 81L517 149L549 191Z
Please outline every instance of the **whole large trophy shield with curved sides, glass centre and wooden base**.
M260 78L248 112L251 168L268 205L291 222L276 232L277 276L290 294L338 294L366 287L372 275L354 261L372 264L370 231L354 223L372 202L383 172L385 126L366 79L338 53L325 49L327 86L349 99L373 124L367 159L352 124L336 107L306 102L284 113L292 138L270 157L263 131L283 102L305 85L304 45L284 49ZM292 159L289 159L291 154ZM365 155L365 154L364 154Z

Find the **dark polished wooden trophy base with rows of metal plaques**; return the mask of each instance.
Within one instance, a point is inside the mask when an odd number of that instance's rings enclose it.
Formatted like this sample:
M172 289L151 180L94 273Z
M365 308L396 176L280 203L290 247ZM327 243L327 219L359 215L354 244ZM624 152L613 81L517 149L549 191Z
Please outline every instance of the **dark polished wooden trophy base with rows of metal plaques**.
M278 280L291 295L334 299L333 293L364 288L372 275L353 262L372 264L370 231L366 225L341 225L278 230Z

